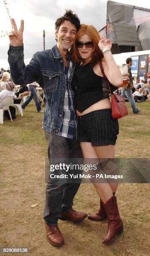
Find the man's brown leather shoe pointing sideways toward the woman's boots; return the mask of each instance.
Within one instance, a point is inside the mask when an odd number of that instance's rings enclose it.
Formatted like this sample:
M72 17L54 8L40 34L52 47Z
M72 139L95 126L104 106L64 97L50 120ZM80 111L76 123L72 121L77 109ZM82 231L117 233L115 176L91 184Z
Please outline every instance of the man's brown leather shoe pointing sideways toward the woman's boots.
M85 212L77 212L75 210L70 210L66 213L61 213L60 220L71 220L72 222L78 222L84 220L87 217Z

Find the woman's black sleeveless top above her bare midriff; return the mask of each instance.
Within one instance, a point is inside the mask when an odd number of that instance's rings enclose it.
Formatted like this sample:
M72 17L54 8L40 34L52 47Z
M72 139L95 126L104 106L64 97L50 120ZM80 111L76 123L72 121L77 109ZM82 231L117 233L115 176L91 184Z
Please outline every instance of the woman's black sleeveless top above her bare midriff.
M90 62L76 70L72 89L75 93L75 108L80 113L99 100L109 98L109 90L105 79L94 73Z

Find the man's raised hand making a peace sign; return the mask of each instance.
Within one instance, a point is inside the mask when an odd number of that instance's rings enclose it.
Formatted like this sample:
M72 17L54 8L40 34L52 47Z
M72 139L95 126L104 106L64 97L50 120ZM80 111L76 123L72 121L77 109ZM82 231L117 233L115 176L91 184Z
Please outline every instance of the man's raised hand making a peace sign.
M23 28L24 28L24 21L21 20L21 25L19 30L17 29L16 23L14 19L11 19L11 22L13 24L13 30L8 35L10 44L12 46L21 46L23 45Z

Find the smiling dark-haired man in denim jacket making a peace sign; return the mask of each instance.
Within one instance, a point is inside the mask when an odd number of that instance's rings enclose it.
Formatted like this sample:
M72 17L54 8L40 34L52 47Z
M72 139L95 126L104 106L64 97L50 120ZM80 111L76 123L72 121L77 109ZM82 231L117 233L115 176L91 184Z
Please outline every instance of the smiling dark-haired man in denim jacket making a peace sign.
M10 49L8 61L13 81L16 84L38 82L46 97L43 117L43 129L48 143L48 159L51 164L56 158L81 158L79 143L74 138L74 94L71 90L71 79L75 63L70 60L68 49L72 46L80 26L77 15L71 10L55 23L57 45L51 50L37 52L30 64L23 64L23 20L18 31L12 19L14 31L9 35ZM71 170L69 170L71 173ZM79 173L76 170L76 173ZM84 220L84 212L72 209L73 199L79 189L78 184L52 183L49 176L46 187L46 205L44 220L47 239L53 246L61 246L64 239L58 228L58 218L73 222Z

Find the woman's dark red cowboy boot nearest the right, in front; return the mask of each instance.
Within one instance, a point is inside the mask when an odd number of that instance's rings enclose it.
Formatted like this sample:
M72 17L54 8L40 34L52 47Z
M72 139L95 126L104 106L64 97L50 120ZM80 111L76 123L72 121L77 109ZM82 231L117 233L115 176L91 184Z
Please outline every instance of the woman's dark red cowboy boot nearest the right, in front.
M104 205L107 218L109 220L107 235L104 236L102 243L110 243L117 238L123 231L123 223L119 215L119 210L117 206L117 198L111 197Z

